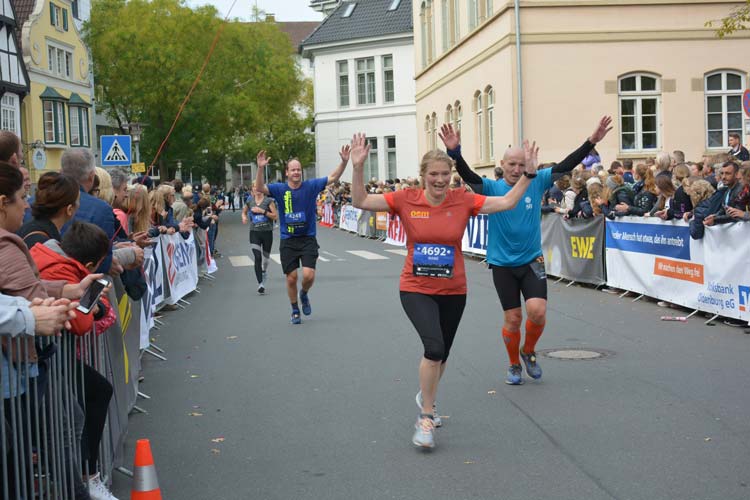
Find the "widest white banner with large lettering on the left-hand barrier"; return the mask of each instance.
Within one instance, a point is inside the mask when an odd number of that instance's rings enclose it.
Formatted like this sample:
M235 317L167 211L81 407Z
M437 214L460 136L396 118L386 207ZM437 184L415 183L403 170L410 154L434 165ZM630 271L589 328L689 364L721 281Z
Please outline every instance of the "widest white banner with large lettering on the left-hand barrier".
M162 235L164 266L169 282L169 304L176 304L198 286L198 263L195 237L190 233L186 240L180 234Z

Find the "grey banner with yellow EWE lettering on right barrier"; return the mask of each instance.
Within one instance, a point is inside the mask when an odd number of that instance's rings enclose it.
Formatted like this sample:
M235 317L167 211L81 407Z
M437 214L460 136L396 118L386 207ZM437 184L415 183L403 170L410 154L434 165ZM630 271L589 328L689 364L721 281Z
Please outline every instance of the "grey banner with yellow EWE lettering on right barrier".
M542 217L542 251L547 274L602 285L604 217L565 220L558 214Z

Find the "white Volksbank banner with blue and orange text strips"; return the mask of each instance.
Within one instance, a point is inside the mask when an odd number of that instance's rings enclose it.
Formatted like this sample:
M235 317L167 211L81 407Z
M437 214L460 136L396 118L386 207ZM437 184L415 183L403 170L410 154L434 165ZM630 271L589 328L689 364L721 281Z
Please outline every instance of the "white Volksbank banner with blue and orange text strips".
M706 228L690 238L683 221L607 221L607 284L729 318L750 319L750 224Z

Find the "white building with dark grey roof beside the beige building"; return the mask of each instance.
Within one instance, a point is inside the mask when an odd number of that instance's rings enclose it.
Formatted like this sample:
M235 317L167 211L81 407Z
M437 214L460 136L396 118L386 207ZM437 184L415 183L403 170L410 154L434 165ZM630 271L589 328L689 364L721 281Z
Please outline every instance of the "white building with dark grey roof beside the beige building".
M317 175L336 167L339 149L357 132L371 145L367 179L416 175L410 0L343 2L301 49L314 73Z

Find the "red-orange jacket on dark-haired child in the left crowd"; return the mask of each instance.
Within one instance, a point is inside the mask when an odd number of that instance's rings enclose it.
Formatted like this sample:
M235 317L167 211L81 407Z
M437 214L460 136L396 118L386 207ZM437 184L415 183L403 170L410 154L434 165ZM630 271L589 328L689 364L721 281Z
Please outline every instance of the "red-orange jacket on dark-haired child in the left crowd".
M88 269L83 267L83 264L65 256L59 243L55 240L50 240L45 245L37 243L30 252L43 279L65 280L68 283L76 284L90 274ZM104 301L105 299L102 297L99 300ZM70 322L70 331L75 335L83 336L91 331L93 324L93 313L83 314L76 311L76 318Z

